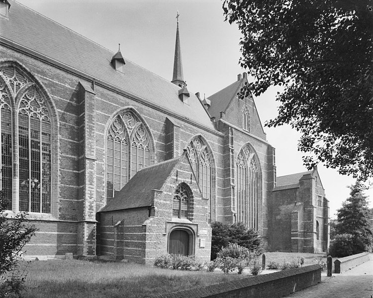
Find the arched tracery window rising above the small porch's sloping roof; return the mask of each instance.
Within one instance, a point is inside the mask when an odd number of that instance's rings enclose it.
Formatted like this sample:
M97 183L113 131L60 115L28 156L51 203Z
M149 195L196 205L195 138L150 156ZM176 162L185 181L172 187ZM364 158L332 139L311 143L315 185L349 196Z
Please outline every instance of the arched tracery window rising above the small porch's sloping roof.
M114 118L106 137L106 203L141 168L150 165L150 146L144 124L131 111Z

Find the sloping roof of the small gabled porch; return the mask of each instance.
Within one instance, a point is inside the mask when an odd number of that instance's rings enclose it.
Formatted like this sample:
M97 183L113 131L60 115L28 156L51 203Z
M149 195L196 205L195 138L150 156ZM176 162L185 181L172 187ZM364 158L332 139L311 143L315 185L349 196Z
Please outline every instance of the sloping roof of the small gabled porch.
M152 190L161 189L179 160L177 157L141 169L99 212L151 206Z

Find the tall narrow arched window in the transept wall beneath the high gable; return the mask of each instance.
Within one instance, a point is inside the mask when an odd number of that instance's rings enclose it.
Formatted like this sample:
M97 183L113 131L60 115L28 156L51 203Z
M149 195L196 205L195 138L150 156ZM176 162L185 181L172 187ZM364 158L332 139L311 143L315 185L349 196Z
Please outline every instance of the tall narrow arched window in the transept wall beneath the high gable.
M237 155L237 221L258 230L259 171L254 153L245 146Z

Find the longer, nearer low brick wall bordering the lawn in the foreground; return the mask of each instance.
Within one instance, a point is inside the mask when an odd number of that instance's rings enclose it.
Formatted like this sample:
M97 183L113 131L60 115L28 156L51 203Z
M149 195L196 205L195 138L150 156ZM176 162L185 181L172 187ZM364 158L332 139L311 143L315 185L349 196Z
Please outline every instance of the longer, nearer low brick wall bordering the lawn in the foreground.
M321 267L310 265L152 298L277 298L321 282Z

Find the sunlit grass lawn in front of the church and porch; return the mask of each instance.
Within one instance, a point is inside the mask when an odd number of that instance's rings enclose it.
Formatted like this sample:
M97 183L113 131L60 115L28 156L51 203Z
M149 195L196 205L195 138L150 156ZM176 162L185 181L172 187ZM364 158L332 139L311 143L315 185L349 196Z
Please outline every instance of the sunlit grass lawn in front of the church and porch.
M33 261L24 298L143 298L248 277L160 269L134 263Z

